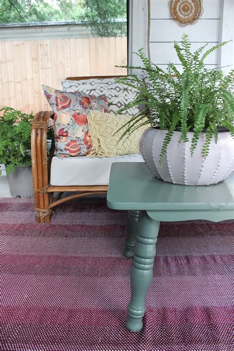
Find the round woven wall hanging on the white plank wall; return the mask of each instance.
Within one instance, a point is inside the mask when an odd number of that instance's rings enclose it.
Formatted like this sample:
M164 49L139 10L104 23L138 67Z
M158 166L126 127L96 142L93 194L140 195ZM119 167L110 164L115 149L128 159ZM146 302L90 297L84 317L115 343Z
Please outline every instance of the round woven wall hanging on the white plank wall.
M203 13L202 0L170 0L171 18L180 26L194 24Z

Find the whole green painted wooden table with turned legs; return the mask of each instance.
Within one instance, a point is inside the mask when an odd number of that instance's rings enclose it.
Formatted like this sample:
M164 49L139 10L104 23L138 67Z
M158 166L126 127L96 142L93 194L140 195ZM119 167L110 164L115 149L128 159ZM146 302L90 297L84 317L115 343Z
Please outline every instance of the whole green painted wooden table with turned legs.
M155 178L145 163L117 162L111 168L107 205L129 210L124 254L131 257L134 250L134 257L126 327L137 332L143 326L160 221L233 219L234 176L209 186L175 185Z

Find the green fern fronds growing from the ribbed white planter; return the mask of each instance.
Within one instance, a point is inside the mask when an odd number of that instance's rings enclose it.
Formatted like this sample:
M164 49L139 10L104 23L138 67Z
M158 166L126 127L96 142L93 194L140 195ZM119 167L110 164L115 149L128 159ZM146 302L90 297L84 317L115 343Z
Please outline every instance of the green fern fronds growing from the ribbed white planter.
M182 73L172 63L167 65L166 70L157 67L148 60L143 49L136 53L143 67L120 66L141 70L146 76L146 79L137 75L117 79L133 88L137 85L140 90L138 97L119 112L137 105L144 106L123 126L125 131L121 138L149 122L152 127L167 130L160 152L161 164L174 131L181 131L180 143L189 141L188 131L194 132L191 156L204 130L204 157L209 153L211 139L214 138L217 143L218 127L226 127L234 137L234 70L225 77L221 70L207 69L204 65L204 59L226 43L215 45L203 53L206 44L192 52L189 37L184 34L181 45L174 42Z

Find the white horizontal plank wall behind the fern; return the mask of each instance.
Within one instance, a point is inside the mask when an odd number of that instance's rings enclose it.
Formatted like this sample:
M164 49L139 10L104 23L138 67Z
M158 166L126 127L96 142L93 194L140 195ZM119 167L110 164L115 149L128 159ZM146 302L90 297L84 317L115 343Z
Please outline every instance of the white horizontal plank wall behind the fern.
M173 62L180 70L181 65L173 48L173 42L180 41L183 33L189 35L193 50L206 42L207 48L210 48L220 41L233 39L234 0L203 0L204 11L201 18L195 24L186 27L181 27L170 18L168 2L168 0L151 0L151 60L159 67L165 68L169 62ZM130 11L132 21L130 20L129 58L130 63L139 65L139 60L131 54L131 51L137 51L140 47L144 47L147 51L147 0L132 0L130 6L132 6L132 12ZM206 58L207 67L233 65L233 43L228 43L222 50L216 50Z

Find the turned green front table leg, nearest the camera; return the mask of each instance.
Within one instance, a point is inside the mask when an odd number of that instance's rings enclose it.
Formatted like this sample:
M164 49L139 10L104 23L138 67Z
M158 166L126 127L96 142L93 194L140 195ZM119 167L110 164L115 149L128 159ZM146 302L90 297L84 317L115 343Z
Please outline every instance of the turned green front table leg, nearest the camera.
M143 326L145 297L153 275L159 224L160 222L151 219L146 211L140 211L131 271L131 300L126 320L127 329L133 332L140 331Z

